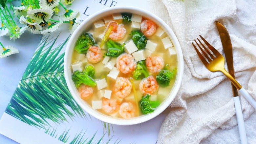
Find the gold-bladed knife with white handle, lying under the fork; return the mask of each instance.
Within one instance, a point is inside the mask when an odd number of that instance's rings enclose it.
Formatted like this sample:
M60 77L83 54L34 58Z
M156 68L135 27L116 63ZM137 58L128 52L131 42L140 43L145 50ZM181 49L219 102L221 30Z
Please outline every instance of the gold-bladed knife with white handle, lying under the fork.
M226 57L228 72L233 77L235 77L234 68L233 68L233 51L232 51L232 44L231 44L229 34L226 28L220 22L218 21L215 21L215 22L220 34L221 43L222 43L224 54ZM233 100L234 100L235 109L236 109L236 118L237 118L237 125L238 125L240 140L242 144L247 144L247 138L245 133L245 123L244 123L240 100L238 97L238 92L236 87L232 83L231 83L231 86L233 91Z

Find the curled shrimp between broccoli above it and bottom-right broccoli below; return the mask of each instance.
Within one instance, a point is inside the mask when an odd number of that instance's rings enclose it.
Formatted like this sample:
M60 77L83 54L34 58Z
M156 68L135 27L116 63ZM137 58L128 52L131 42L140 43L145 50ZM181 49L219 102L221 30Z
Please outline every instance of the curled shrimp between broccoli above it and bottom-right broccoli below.
M153 94L156 92L157 87L157 80L152 75L143 78L139 83L139 90L142 94Z

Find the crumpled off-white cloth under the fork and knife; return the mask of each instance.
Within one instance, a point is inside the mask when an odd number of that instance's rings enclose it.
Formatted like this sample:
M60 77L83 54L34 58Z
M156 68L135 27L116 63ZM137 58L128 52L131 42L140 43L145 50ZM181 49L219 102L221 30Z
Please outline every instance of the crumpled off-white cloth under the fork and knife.
M215 20L224 24L233 46L236 80L256 99L255 6L254 0L149 1L151 11L164 20L177 35L184 56L181 88L170 104L172 109L160 128L159 144L240 143L238 130L233 131L232 136L224 132L237 125L230 81L221 72L208 71L191 42L200 34L224 55ZM227 70L226 63L224 67ZM246 120L254 109L239 95ZM254 121L255 119L245 121L248 125L254 125L253 128L245 128L249 131L248 143L255 143ZM216 129L227 137L216 138L218 134L212 134ZM210 134L215 139L208 138Z

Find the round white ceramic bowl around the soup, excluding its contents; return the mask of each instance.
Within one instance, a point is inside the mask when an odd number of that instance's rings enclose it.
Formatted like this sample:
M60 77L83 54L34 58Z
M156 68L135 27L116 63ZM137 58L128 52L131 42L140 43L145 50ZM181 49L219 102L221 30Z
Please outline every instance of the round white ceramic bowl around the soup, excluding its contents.
M71 67L70 67L71 58L72 58L72 53L73 53L74 46L75 46L75 43L76 43L76 40L78 39L78 37L82 33L84 33L85 29L90 27L92 25L92 23L95 22L96 20L103 18L104 16L107 16L107 15L110 15L113 13L118 13L118 12L130 12L130 13L139 14L139 15L147 17L147 18L153 20L154 22L156 22L170 37L170 39L177 51L177 57L178 57L178 73L177 73L176 81L174 83L174 86L173 86L171 92L166 97L166 99L160 104L160 106L158 106L158 108L155 110L155 112L146 114L146 115L142 115L142 116L138 116L138 117L134 117L134 118L130 118L130 119L113 118L111 116L102 114L96 110L93 110L89 104L87 104L84 100L82 100L80 98L80 96L75 88L75 85L71 79L71 75L72 75ZM82 109L84 109L87 113L89 113L93 117L95 117L99 120L102 120L104 122L111 123L111 124L117 124L117 125L139 124L139 123L148 121L148 120L156 117L157 115L159 115L161 112L163 112L170 105L170 103L173 101L174 97L178 93L178 90L181 85L182 76L183 76L183 67L184 67L184 65L183 65L183 55L182 55L182 51L181 51L181 46L179 44L177 37L175 36L173 31L168 27L168 25L163 20L161 20L159 17L157 17L155 14L153 14L149 11L139 9L136 7L128 7L128 6L118 6L118 7L104 9L104 10L96 12L95 14L92 14L87 19L85 19L78 26L78 28L75 30L75 32L70 37L68 45L67 45L67 49L65 52L65 56L64 56L65 78L66 78L66 82L67 82L69 91L72 94L72 96L74 97L75 101L79 104L80 107L82 107Z

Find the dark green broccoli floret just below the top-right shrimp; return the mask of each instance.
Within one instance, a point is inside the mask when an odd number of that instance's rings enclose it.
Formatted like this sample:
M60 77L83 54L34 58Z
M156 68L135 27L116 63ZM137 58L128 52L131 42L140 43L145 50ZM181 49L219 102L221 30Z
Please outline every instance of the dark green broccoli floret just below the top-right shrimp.
M132 31L130 35L132 35L132 40L139 50L144 49L146 47L148 40L146 36L143 35L143 33L141 33L138 30L138 31Z

